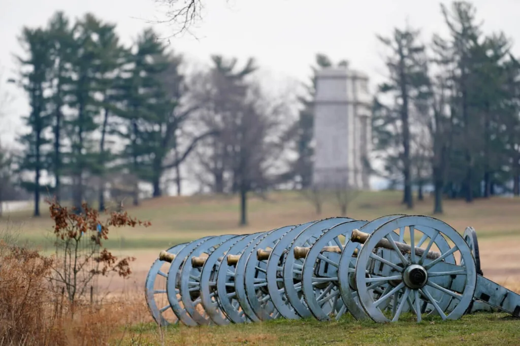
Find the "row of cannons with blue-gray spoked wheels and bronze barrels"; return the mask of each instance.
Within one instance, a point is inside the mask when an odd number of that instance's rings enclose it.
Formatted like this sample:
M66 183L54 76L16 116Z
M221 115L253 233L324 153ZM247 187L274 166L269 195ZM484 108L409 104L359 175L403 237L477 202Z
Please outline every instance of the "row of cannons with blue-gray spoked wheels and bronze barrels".
M473 228L428 216L344 217L206 236L161 251L146 280L159 325L226 325L314 316L443 320L493 308L520 316L520 296L483 276Z

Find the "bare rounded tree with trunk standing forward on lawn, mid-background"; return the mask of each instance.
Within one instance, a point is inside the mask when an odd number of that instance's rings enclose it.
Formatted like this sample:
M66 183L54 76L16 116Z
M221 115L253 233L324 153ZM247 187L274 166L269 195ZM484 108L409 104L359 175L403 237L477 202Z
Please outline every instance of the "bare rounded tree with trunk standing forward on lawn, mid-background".
M256 70L253 59L242 69L235 69L236 59L214 56L213 61L214 68L198 76L193 87L201 105L199 124L216 134L198 151L198 177L213 192L240 195L240 224L245 225L248 193L262 193L283 170L289 110L283 97L268 96L250 77Z

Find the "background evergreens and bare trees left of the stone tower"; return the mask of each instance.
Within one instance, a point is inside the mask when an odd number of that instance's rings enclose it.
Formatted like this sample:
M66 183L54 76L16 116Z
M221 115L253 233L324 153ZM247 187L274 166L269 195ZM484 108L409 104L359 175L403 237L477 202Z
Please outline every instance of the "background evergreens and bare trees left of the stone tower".
M85 199L105 209L107 191L138 205L139 183L161 196L172 171L181 194L180 165L190 157L203 187L241 196L245 224L248 192L291 169L280 159L293 139L287 102L258 83L253 58L240 65L215 55L209 69L189 75L183 55L152 29L124 46L115 25L92 14L73 22L56 12L19 41L24 54L11 82L30 113L14 170L34 194L35 216L44 193L78 209Z

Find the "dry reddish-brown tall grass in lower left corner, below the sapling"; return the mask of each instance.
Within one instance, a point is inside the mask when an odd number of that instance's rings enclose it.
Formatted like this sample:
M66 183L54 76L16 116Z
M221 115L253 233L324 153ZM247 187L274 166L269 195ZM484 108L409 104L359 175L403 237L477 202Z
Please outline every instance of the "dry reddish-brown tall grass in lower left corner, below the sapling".
M142 294L122 292L101 303L50 289L50 261L0 242L0 345L104 345L129 326L151 322Z

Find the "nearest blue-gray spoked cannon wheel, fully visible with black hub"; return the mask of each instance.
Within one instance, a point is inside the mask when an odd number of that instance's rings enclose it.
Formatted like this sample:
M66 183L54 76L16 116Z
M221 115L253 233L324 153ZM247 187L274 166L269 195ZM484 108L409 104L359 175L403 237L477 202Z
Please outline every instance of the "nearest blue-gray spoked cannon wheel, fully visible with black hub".
M436 259L419 256L415 251L410 251L410 254L402 254L398 250L376 248L376 245L381 244L382 239L386 239L389 244L397 249L391 233L401 227L409 227L412 249L416 245L414 241L415 230L424 227L421 232L425 234L428 230L433 230L428 235L430 241L426 246L424 255L428 254L439 235L441 239L445 238L454 243L454 246L448 245L448 250L439 248L441 255ZM460 252L464 259L463 267L443 261L443 259L447 260L453 257L456 252ZM447 268L454 268L455 270L446 270ZM369 277L367 277L367 271ZM425 302L432 304L434 311L443 320L460 318L473 299L476 284L475 261L462 236L445 222L426 216L399 217L388 221L375 230L369 235L359 251L355 275L361 306L375 322L398 321L405 305L408 304L410 311L415 313L417 321L420 322L422 320L421 305L424 305ZM458 288L462 294L458 294L451 289L453 277L458 276L464 279L463 287ZM388 287L392 286L392 288L385 292L382 297L374 299L369 294L368 287L376 282L387 282L390 284ZM440 296L440 298L435 297L434 290L438 292L437 296ZM450 300L452 298L459 300L454 309L447 314L445 312L449 304L446 307L439 305L444 297L449 297ZM389 309L385 314L380 306L391 298L395 301L400 300L400 302L396 309Z

